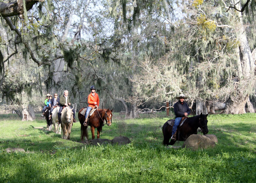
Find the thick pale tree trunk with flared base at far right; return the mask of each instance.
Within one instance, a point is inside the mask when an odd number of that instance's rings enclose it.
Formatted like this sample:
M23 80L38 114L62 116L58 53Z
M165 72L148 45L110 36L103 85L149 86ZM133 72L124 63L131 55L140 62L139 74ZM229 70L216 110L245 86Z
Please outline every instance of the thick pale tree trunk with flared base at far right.
M237 9L241 9L240 0L235 0ZM226 102L225 113L227 114L242 114L245 113L245 104L250 95L250 87L255 86L255 60L252 58L252 53L245 35L243 26L242 14L239 11L234 11L238 16L237 39L239 45L237 66L238 66L238 81L234 82L236 90L230 95Z

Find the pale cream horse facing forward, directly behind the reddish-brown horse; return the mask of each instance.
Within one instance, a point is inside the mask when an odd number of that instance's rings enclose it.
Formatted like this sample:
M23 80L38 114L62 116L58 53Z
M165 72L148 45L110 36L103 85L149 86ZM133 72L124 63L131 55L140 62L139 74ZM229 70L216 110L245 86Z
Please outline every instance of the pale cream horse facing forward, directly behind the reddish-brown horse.
M73 112L69 106L62 110L60 119L62 120L61 127L64 139L70 139L71 128L73 126Z

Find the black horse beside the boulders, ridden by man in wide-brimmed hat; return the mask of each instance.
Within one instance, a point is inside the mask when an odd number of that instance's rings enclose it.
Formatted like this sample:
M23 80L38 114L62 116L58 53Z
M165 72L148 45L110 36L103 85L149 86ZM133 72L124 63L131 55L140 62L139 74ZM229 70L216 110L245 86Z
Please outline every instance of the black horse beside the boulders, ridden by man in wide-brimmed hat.
M207 115L203 115L202 113L200 115L194 116L194 117L188 117L185 122L182 124L182 126L178 126L177 133L176 133L176 140L178 141L185 141L187 137L189 137L192 134L197 134L197 129L200 127L200 129L203 131L203 134L208 133L208 127L207 127ZM171 135L172 135L172 126L169 125L168 121L165 122L164 126L162 127L163 135L164 135L164 145L173 145L176 140L171 140L169 142Z

